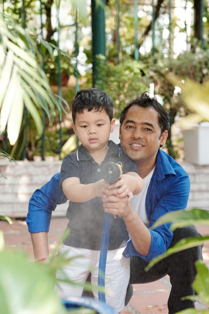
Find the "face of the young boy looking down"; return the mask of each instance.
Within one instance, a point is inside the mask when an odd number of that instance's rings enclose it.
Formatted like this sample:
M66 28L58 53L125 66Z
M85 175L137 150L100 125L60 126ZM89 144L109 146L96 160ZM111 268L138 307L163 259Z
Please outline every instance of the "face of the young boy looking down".
M106 152L110 132L113 131L115 119L110 121L109 116L102 111L88 111L77 113L75 124L72 123L74 132L88 152L103 150Z

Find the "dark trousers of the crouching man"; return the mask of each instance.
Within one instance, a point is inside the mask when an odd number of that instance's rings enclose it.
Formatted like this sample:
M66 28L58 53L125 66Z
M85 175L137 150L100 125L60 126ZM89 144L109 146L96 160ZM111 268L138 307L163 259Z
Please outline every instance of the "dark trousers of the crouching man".
M182 238L195 237L198 235L199 233L194 226L176 229L173 233L173 240L170 247ZM150 268L149 271L144 271L147 262L140 257L133 256L130 260L130 283L151 282L168 274L172 286L168 299L169 314L176 313L189 307L195 308L194 301L181 300L181 297L194 294L191 283L196 274L194 262L198 259L202 259L202 246L174 253L159 261Z

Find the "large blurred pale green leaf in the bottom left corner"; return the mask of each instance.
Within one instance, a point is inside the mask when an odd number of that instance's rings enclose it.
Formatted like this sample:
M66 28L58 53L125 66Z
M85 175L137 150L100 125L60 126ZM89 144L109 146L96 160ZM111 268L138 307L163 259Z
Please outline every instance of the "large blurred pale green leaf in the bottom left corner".
M7 314L67 313L54 290L54 279L23 252L0 252L0 304Z

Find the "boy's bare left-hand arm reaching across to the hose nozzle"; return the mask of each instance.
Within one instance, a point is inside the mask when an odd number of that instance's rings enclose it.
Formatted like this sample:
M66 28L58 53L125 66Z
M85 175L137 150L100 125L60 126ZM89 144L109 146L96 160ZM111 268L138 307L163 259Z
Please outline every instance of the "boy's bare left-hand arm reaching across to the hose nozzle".
M66 197L75 203L83 203L104 196L110 189L103 179L95 183L81 184L80 179L71 177L62 182L62 189Z

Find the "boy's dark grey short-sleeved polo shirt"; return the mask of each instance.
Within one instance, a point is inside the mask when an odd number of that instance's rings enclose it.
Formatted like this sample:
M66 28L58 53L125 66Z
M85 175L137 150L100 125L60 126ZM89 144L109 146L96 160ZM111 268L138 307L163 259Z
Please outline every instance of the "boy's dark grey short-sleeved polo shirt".
M123 173L137 172L136 164L131 161L113 141L108 142L108 152L105 160L98 165L83 145L80 145L76 152L68 154L62 163L60 184L71 177L80 178L82 184L94 183L101 180L101 167L107 162L121 162ZM96 197L83 203L69 201L66 214L69 219L68 228L70 234L64 244L100 250L104 210L101 198ZM124 240L128 240L128 232L122 218L112 219L109 250L120 247Z

